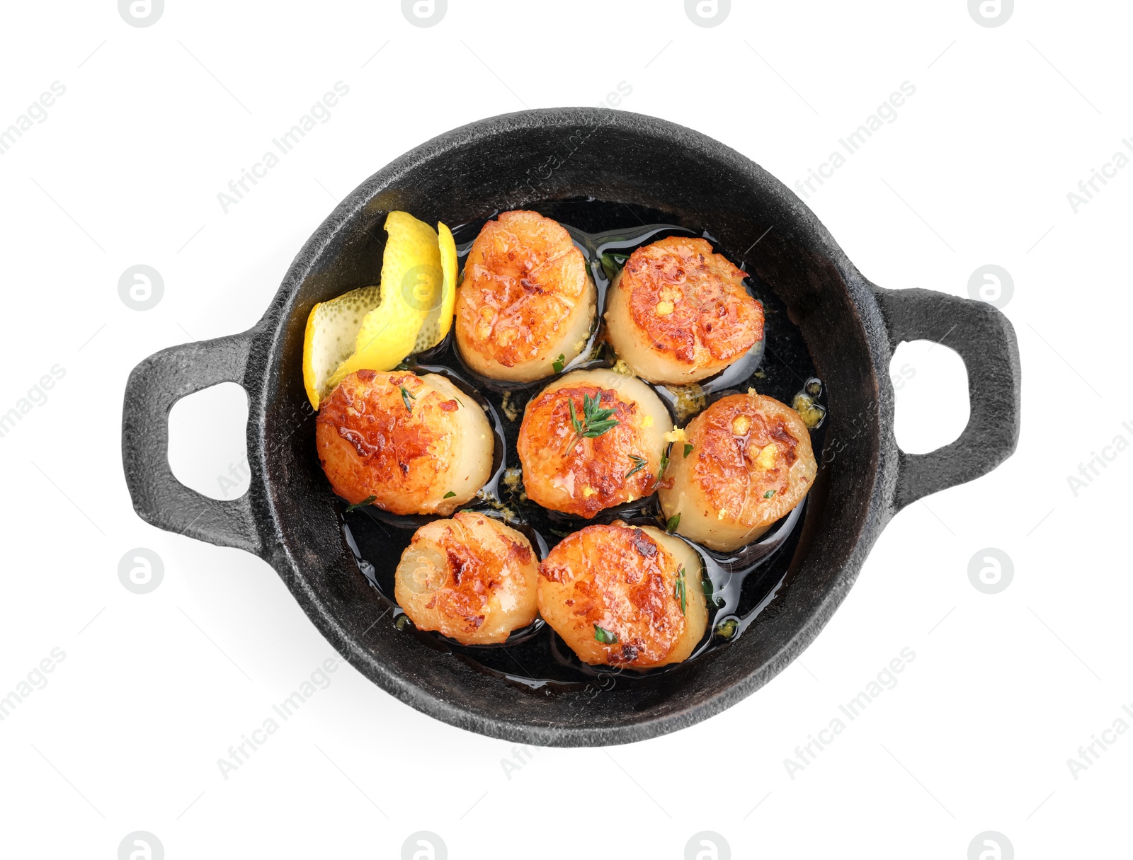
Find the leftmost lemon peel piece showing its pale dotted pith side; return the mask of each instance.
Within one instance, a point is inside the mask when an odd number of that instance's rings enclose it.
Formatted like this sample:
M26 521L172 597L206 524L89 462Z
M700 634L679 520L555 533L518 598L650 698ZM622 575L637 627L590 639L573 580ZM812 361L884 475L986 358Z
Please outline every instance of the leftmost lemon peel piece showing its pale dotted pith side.
M310 309L303 339L303 384L315 409L330 393L334 371L353 354L361 322L381 297L378 287L363 287Z

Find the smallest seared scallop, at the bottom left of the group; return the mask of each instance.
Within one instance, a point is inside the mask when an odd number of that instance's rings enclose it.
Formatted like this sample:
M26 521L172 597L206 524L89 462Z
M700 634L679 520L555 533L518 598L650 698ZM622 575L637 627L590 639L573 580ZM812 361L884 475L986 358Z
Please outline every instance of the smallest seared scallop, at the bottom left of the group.
M393 595L418 630L489 645L535 621L538 570L520 533L461 511L417 529L401 554Z

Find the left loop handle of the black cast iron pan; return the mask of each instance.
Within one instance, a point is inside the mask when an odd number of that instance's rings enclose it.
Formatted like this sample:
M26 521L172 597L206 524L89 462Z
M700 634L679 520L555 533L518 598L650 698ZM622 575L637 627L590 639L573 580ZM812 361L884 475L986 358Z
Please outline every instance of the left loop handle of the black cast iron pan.
M250 492L231 502L208 499L174 478L169 467L169 410L221 382L244 385L253 334L170 347L134 368L122 403L122 467L134 510L150 525L263 555Z

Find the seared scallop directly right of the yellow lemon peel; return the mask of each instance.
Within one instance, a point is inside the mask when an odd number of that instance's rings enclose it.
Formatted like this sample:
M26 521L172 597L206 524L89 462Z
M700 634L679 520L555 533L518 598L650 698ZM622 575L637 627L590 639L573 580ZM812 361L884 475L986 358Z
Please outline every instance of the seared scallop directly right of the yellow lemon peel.
M597 290L557 221L504 212L472 242L457 291L457 346L494 380L550 376L586 347Z

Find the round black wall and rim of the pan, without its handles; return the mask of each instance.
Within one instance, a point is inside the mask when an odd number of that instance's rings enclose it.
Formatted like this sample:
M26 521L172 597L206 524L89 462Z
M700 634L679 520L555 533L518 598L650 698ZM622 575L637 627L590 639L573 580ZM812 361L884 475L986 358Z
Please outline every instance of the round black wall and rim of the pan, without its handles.
M817 635L884 525L878 384L855 303L867 286L809 211L750 161L688 129L616 116L578 109L497 117L429 142L372 177L292 264L284 284L293 288L278 309L282 327L266 356L257 441L278 542L270 555L292 593L331 642L399 699L451 724L529 743L641 740L750 695ZM734 641L656 676L535 686L406 635L359 572L342 505L315 455L301 374L304 326L315 303L380 280L382 225L392 210L454 225L513 208L582 230L645 222L712 236L769 292L769 306L799 332L825 388L819 476L774 599ZM768 330L775 325L769 315ZM764 365L774 361L768 356Z

